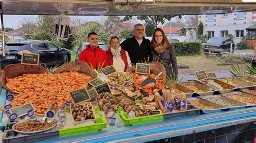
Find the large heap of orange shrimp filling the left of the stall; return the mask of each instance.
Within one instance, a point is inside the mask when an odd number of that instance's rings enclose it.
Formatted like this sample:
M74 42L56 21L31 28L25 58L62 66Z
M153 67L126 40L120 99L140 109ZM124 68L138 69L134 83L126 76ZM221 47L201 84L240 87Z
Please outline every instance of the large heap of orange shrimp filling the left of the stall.
M56 98L52 105L53 109L64 106L67 101L71 101L69 91L86 88L90 78L77 71L61 74L24 74L11 79L7 78L6 87L18 93L12 101L13 108L32 103L37 115L44 116L53 97Z

